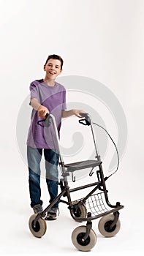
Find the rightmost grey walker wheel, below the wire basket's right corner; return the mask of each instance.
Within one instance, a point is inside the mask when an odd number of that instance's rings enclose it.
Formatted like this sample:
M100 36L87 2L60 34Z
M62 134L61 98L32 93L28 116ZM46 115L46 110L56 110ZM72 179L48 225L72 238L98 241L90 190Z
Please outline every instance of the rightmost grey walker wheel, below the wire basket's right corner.
M113 214L105 215L104 217L102 217L102 219L99 220L98 228L102 236L112 237L118 233L121 227L121 222L118 219L118 222L110 230L110 225L113 223L113 220L114 220Z

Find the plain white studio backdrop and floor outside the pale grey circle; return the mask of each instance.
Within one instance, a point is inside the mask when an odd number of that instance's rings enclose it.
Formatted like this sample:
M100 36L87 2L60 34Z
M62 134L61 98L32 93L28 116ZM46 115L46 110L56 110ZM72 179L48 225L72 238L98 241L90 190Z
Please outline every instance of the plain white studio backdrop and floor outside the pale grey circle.
M112 199L125 206L121 230L115 238L102 238L94 221L97 244L87 255L143 255L144 1L1 0L0 14L1 255L83 253L72 245L79 224L66 206L41 239L28 227L28 171L18 151L16 121L29 83L44 77L42 67L52 53L63 57L63 75L94 78L113 91L128 124L120 170L107 184ZM45 206L47 198L42 180Z

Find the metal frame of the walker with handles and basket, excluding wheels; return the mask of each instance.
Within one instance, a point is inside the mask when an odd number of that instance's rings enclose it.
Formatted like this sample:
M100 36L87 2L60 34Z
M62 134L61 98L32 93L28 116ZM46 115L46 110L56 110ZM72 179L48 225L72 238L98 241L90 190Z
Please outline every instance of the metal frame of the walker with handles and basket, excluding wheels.
M36 227L37 221L39 220L39 218L45 217L45 214L48 211L50 211L50 208L52 208L54 206L54 204L59 201L61 203L67 204L70 214L71 214L72 218L75 219L75 221L77 221L77 222L85 222L86 221L87 222L86 234L83 237L83 241L85 241L86 238L88 238L88 236L89 236L89 233L90 233L90 230L92 227L92 220L98 219L100 217L104 217L107 214L113 214L113 216L114 216L113 222L110 222L110 227L109 227L110 229L113 229L113 227L118 222L119 210L121 210L121 208L124 208L124 206L122 206L121 203L119 203L119 202L116 202L115 205L112 205L109 202L108 195L107 195L108 191L107 191L106 184L105 184L105 181L107 180L108 177L104 176L104 173L102 170L102 161L100 159L100 156L99 156L99 153L97 150L97 146L96 146L96 138L94 135L94 127L92 124L91 116L88 115L88 113L80 113L80 115L83 116L83 119L80 119L79 122L81 124L88 125L91 127L91 132L92 132L92 136L94 139L94 148L96 151L96 156L95 156L95 159L93 159L93 160L88 159L83 162L74 162L74 163L70 163L70 164L65 164L64 159L61 156L61 150L60 150L60 145L58 142L59 141L58 140L58 131L57 131L57 127L56 127L55 117L52 114L47 114L45 120L38 121L38 124L43 127L49 127L51 122L53 121L54 132L55 132L56 141L58 144L59 166L61 167L62 178L58 182L58 185L61 187L60 194L53 200L53 202L51 202L48 205L47 208L45 208L44 211L37 214L37 216L34 219L34 227ZM43 124L41 122L43 122ZM82 169L86 169L86 168L90 168L90 167L91 167L91 172L89 173L90 176L92 176L92 174L94 173L93 172L94 167L99 168L99 170L96 170L96 182L70 189L68 180L67 180L67 176L69 176L69 174L71 173L72 181L75 181L75 176L74 176L75 170L82 170ZM89 187L94 187L94 189L92 189L91 192L89 192L88 195L86 195L85 197L78 199L75 202L72 202L71 195L70 195L72 192L76 192L78 190L86 189ZM99 193L95 194L95 192L97 190L99 190ZM63 199L61 199L61 197L67 197L67 200L63 200ZM106 203L106 206L105 206L105 203ZM87 208L87 211L86 211L86 216L81 217L80 208L83 206L85 206Z

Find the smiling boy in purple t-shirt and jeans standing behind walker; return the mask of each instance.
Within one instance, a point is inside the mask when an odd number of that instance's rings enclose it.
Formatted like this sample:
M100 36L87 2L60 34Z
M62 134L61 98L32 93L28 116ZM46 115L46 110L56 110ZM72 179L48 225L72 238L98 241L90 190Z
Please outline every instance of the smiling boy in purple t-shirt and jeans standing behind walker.
M61 128L61 118L75 115L81 118L80 113L83 110L66 110L66 90L64 86L55 80L61 74L63 59L56 54L48 56L45 62L45 78L34 80L31 83L31 102L32 114L31 125L27 140L27 157L29 165L29 193L31 198L31 207L34 213L43 211L40 188L40 161L42 151L45 157L46 183L50 194L50 202L58 195L58 151L48 139L45 139L44 127L40 127L37 121L45 118L46 113L53 113L56 118L58 135ZM50 141L50 135L47 135ZM56 219L58 203L56 203L45 219Z

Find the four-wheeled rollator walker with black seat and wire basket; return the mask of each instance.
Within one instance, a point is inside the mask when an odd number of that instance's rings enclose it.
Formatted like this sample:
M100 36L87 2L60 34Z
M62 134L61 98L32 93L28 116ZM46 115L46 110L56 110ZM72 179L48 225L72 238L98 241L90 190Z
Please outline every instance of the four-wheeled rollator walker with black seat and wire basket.
M120 230L121 223L119 220L119 210L124 208L124 206L122 206L119 202L116 202L115 205L112 205L109 202L105 181L107 181L107 178L109 178L111 175L108 177L104 176L102 170L102 161L96 147L96 139L91 116L88 113L80 113L80 116L83 117L83 119L79 120L80 124L87 125L91 128L96 156L95 159L88 159L86 161L73 162L70 164L65 164L64 159L61 156L55 117L52 114L47 114L45 120L38 121L38 124L43 127L50 127L50 125L53 123L54 133L58 145L59 167L61 168L61 178L60 181L58 181L61 192L48 205L48 207L45 208L44 211L39 214L31 215L29 219L29 229L37 238L44 236L47 229L47 224L44 219L45 214L50 211L50 208L52 208L56 202L59 201L61 203L65 203L68 206L72 218L75 219L76 222L86 222L86 225L81 225L73 230L72 243L80 251L89 251L96 244L96 233L92 229L92 221L94 219L101 218L98 224L99 233L105 237L113 237ZM96 169L98 168L98 170L96 170L94 173L95 167ZM67 177L71 174L72 181L75 182L75 171L80 171L83 169L89 170L90 168L91 171L89 176L95 174L95 182L70 189ZM88 192L88 195L72 201L72 192L77 192L81 189L88 189L90 187L93 188L91 192ZM67 197L67 200L64 200L64 198L61 199L61 197Z

